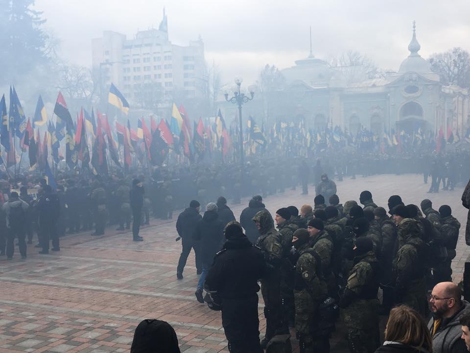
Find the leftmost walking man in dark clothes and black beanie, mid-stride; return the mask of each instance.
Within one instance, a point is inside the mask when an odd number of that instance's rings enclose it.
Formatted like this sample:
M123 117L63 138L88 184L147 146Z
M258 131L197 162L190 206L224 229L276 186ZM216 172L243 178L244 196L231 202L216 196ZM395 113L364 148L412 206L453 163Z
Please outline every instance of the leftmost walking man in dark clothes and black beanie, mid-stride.
M200 207L201 205L198 201L192 200L189 202L189 207L181 212L176 220L176 231L178 232L178 236L181 237L181 246L183 248L176 269L176 277L178 279L183 279L183 270L185 269L191 249L194 249L196 257L196 273L198 275L202 273L200 246L199 243L192 238L192 233L197 223L202 219L199 214Z

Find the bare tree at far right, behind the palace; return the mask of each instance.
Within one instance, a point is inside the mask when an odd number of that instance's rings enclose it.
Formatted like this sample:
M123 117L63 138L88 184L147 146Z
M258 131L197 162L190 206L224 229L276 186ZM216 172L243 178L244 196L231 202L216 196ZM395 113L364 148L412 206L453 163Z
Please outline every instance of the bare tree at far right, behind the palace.
M431 70L439 74L444 84L470 88L470 55L467 50L453 48L429 58Z

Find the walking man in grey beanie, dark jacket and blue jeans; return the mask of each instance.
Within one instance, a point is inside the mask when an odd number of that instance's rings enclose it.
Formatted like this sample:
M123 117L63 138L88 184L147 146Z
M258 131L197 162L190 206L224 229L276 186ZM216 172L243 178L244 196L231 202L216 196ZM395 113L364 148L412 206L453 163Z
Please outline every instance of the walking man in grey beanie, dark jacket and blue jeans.
M224 223L219 219L218 208L214 202L209 202L206 212L201 220L196 224L193 239L200 242L200 252L202 260L202 273L197 282L196 299L199 303L204 303L202 288L209 269L212 266L214 256L222 248L224 239Z

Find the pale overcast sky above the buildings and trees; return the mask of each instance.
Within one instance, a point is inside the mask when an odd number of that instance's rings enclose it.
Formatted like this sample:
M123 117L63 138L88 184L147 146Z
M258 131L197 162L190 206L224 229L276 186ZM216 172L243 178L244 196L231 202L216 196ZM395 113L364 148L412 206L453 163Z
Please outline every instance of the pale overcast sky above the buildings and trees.
M239 76L249 84L265 64L285 68L306 57L310 25L316 57L358 50L384 69L398 70L409 54L413 20L423 57L470 50L468 0L36 0L35 7L61 40L60 55L83 66L91 66L91 39L103 30L132 38L158 28L165 7L171 42L188 45L200 34L224 83Z

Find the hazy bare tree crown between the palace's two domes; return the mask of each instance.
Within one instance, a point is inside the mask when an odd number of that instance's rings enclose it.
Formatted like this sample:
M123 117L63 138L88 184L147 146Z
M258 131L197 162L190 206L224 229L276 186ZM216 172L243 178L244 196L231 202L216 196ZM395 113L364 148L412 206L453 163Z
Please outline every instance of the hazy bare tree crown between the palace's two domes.
M348 83L385 76L383 70L379 69L370 58L359 51L349 50L339 56L332 56L329 58L328 63L331 67L341 71Z

